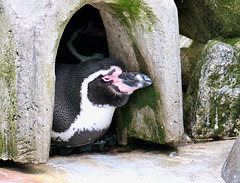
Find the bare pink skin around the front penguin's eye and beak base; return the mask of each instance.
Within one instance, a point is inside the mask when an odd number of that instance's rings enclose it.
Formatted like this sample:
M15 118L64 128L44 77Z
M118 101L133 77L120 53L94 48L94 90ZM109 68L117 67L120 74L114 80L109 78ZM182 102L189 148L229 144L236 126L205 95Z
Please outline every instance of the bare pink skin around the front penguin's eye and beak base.
M118 87L121 92L133 92L134 90L138 89L131 88L128 85L124 84L122 80L118 77L120 74L122 74L122 70L116 67L115 72L113 72L111 75L104 76L102 79L105 82L113 81L113 85Z

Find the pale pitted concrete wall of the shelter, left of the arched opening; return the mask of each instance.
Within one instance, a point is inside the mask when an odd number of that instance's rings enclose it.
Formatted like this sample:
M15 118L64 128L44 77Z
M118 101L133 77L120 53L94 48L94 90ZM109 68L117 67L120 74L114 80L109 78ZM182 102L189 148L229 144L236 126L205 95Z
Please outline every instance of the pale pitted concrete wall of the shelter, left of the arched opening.
M4 114L0 121L1 159L46 162L54 99L54 49L58 38L50 21L53 11L47 15L41 11L33 13L34 9L45 6L32 1L3 0L0 4L3 20L0 114Z

